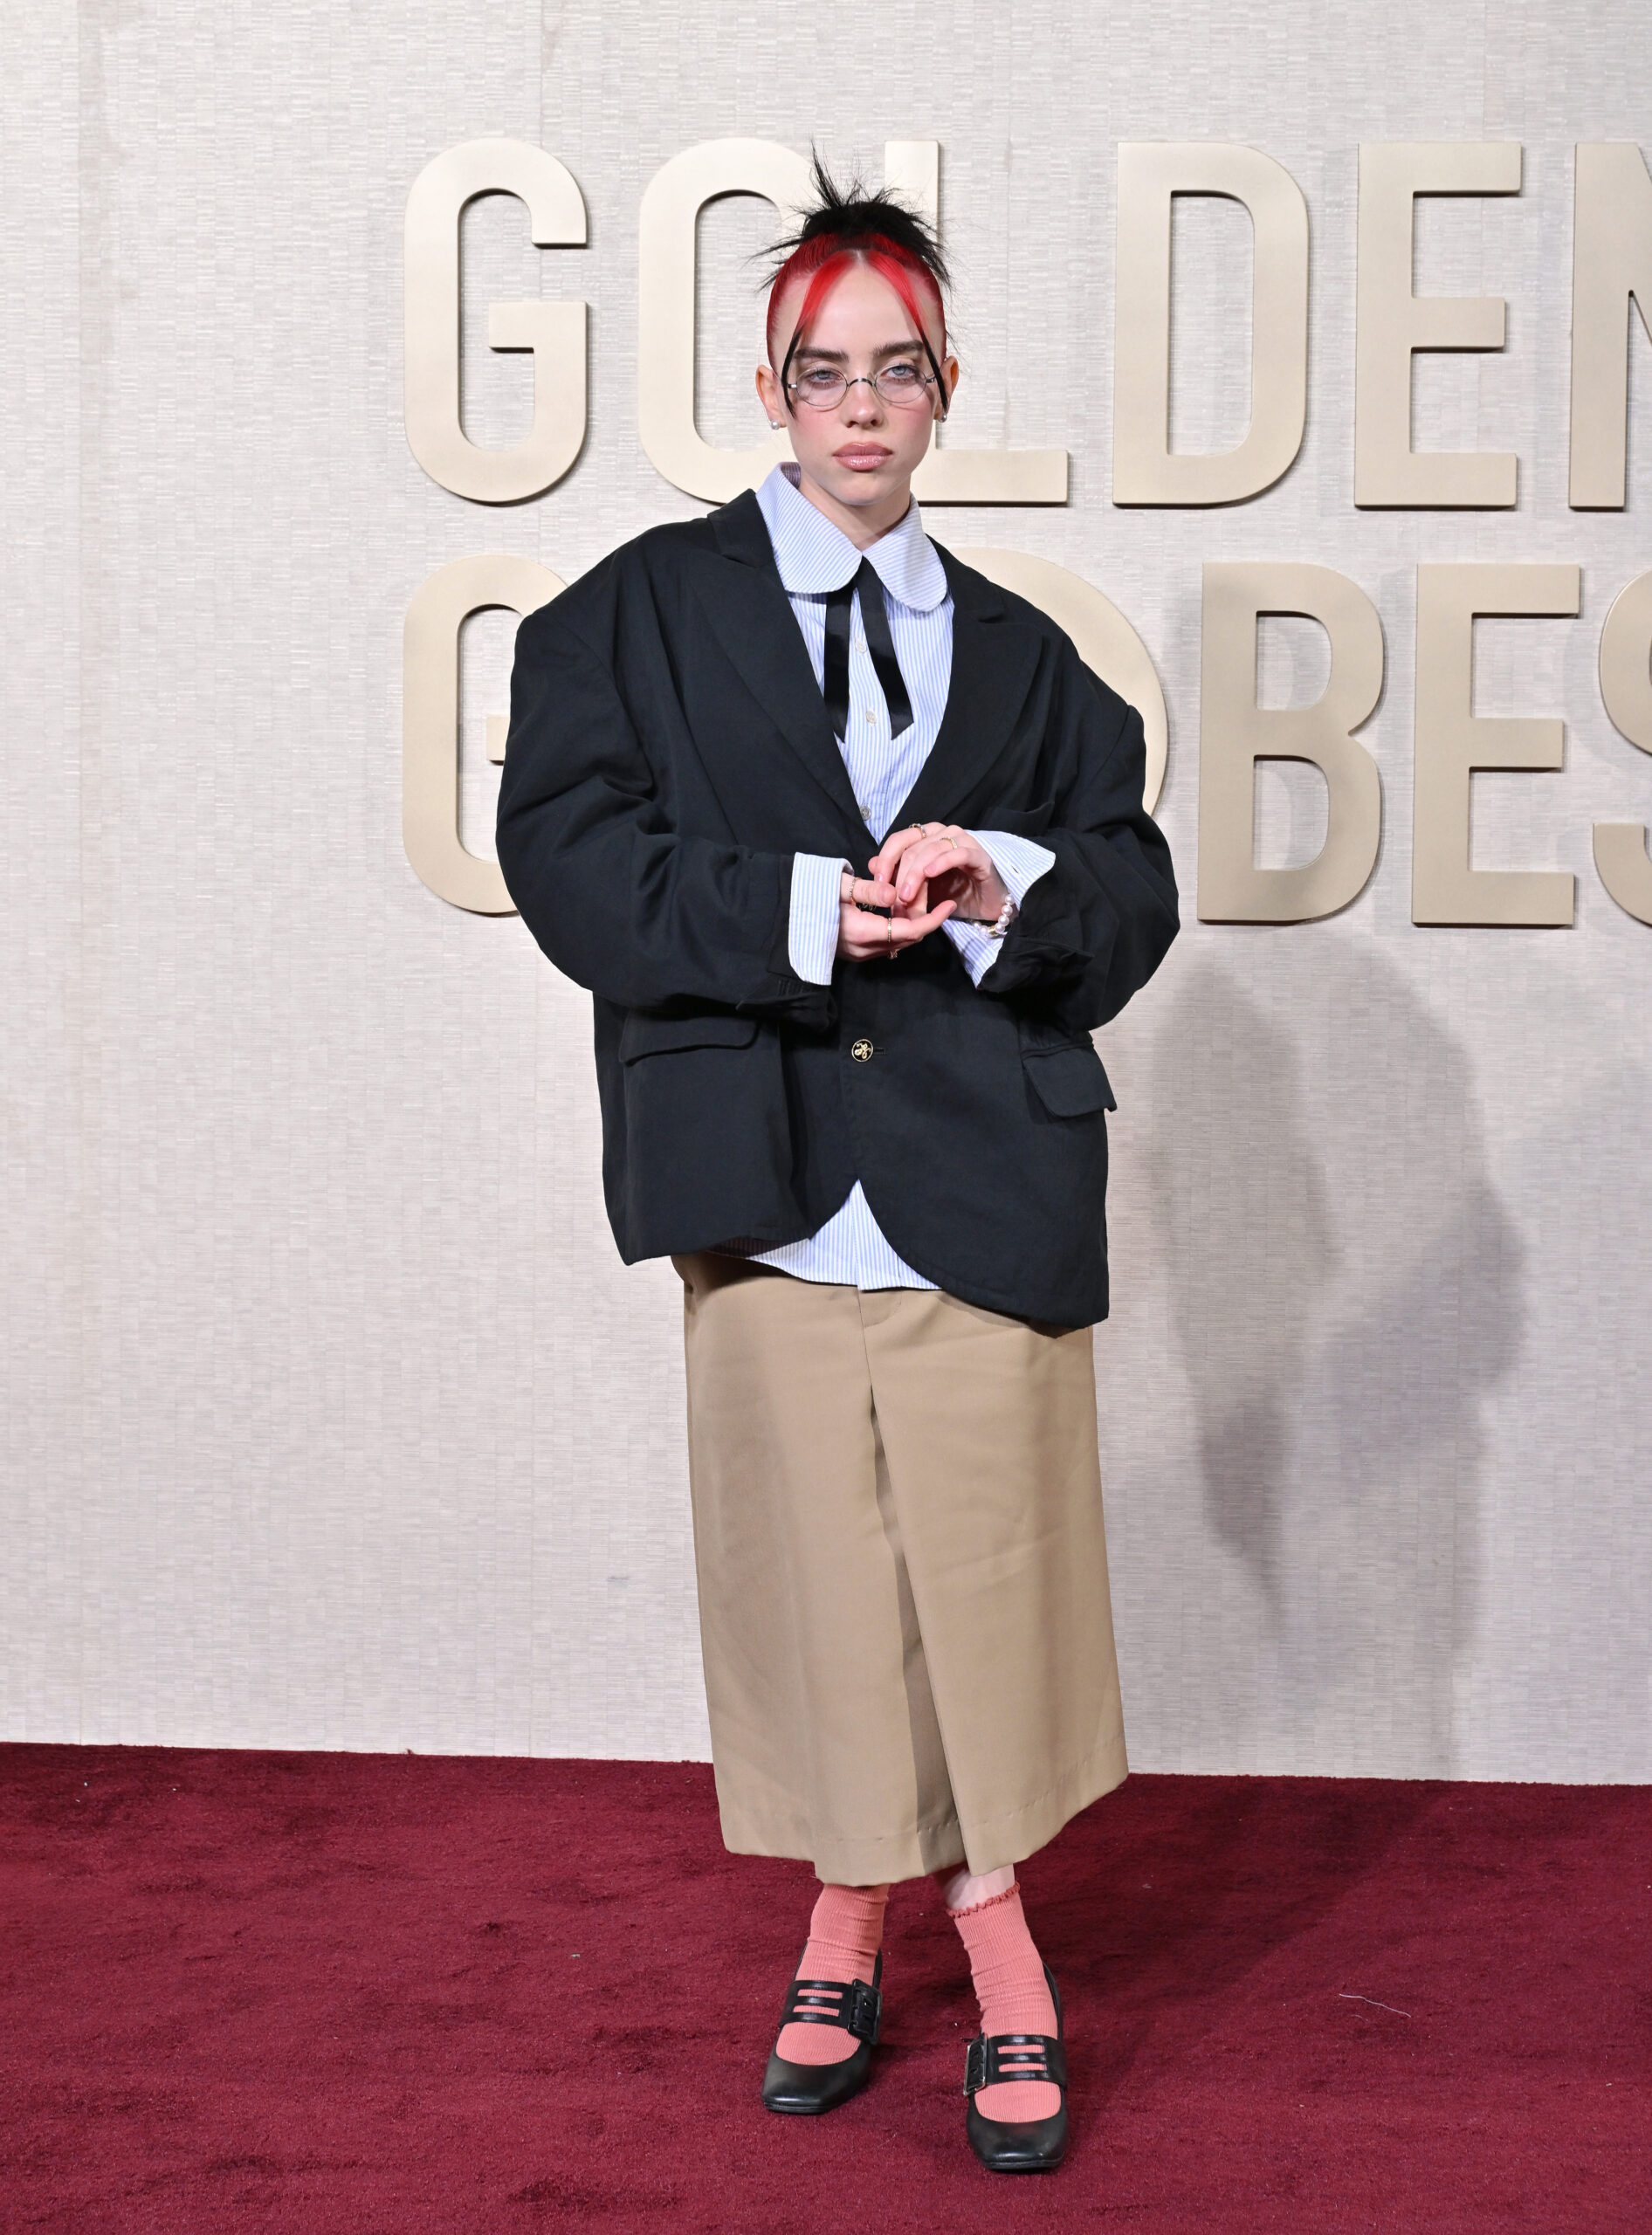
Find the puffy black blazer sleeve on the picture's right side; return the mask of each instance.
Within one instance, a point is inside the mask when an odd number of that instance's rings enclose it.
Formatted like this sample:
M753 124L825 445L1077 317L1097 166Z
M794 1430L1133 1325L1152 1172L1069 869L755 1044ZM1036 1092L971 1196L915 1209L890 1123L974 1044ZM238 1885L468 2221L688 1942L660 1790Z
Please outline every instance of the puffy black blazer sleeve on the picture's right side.
M1093 1033L1158 970L1180 928L1169 847L1142 807L1142 717L1071 644L1057 697L1062 789L1037 843L1055 867L1031 885L981 992Z

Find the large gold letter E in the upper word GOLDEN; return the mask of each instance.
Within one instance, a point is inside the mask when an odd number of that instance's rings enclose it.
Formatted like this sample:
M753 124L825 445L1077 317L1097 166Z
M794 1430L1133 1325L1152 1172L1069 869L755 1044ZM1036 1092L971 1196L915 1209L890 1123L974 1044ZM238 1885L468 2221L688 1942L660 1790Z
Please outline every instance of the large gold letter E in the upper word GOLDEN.
M1417 194L1518 194L1518 141L1395 143L1359 150L1355 331L1355 503L1511 505L1507 451L1411 447L1411 360L1420 349L1502 349L1500 295L1413 295Z

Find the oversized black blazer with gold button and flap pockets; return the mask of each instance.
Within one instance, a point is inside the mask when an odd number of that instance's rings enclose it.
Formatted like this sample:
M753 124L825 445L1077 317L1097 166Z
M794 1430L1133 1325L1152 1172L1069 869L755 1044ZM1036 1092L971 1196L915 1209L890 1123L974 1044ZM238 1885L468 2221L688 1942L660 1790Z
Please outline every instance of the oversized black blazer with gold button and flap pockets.
M1142 724L1019 597L941 552L946 720L896 822L1055 854L979 990L943 934L809 986L791 856L876 843L756 496L655 527L516 633L499 860L595 995L604 1187L626 1263L814 1234L861 1180L894 1249L995 1312L1107 1316L1091 1030L1176 936Z

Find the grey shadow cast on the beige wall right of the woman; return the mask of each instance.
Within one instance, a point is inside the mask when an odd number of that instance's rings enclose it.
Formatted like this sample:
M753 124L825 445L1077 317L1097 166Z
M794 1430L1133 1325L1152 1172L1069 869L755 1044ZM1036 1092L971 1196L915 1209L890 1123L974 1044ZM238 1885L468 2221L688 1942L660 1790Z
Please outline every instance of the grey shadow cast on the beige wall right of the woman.
M1259 1594L1279 1768L1449 1775L1522 1249L1466 1057L1382 950L1259 934L1252 959L1241 983L1200 957L1156 1035L1205 1511Z

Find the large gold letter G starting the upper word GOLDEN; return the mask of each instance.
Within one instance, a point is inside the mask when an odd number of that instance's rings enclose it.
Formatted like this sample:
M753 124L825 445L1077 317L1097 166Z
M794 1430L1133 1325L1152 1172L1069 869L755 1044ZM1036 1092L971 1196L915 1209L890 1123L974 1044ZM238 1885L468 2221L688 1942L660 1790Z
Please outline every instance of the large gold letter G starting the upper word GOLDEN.
M481 505L510 505L561 481L586 440L583 302L496 302L490 349L534 353L534 425L525 443L481 449L458 422L458 217L476 194L516 194L539 248L583 248L586 203L572 172L523 141L467 141L427 163L407 197L407 443L431 481Z

